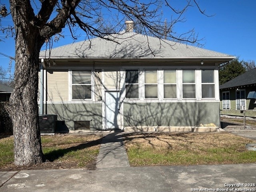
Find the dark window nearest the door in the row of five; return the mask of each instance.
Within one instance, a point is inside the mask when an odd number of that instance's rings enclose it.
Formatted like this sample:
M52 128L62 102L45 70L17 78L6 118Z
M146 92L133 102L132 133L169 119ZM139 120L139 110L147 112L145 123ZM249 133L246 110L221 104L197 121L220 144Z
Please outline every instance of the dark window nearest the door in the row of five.
M139 70L125 70L125 98L139 99Z

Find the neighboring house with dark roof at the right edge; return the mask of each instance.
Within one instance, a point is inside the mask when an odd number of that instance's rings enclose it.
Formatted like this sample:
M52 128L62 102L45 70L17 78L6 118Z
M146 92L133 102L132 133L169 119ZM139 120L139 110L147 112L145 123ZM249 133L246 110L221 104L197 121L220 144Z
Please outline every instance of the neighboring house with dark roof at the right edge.
M220 114L256 117L256 68L220 85Z

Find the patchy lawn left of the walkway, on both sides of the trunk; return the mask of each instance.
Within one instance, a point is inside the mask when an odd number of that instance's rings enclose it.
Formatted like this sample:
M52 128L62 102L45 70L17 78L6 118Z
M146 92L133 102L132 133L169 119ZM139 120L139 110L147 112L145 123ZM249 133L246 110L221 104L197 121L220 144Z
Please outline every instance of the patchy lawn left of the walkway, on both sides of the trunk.
M52 168L92 166L96 162L101 140L102 135L93 134L41 136L44 156L50 161L45 166L47 169L51 166ZM13 136L0 138L0 169L14 167L13 149Z

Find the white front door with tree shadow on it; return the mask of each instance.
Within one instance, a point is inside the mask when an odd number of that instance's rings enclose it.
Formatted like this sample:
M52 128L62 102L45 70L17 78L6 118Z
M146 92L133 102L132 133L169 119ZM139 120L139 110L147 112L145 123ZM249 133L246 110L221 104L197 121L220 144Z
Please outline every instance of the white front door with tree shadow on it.
M120 91L105 92L106 129L120 129Z

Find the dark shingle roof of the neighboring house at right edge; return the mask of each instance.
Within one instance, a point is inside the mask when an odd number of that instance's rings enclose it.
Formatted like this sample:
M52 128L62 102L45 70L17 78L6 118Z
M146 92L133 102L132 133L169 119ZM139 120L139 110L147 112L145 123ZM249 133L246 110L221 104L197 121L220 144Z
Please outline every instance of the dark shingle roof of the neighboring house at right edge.
M220 89L256 84L256 68L220 85Z

